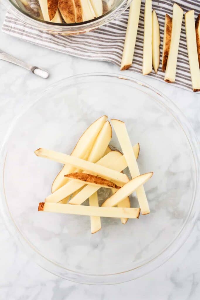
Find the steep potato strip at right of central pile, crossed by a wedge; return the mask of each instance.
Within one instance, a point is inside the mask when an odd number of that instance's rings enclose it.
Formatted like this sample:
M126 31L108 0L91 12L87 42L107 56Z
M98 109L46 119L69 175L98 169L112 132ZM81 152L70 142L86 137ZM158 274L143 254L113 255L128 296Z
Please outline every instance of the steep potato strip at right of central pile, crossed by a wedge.
M127 132L127 128L124 122L119 121L119 120L115 120L112 119L111 120L112 125L115 129L115 133L117 135L118 141L120 143L121 149L124 153L124 157L127 161L129 170L130 170L130 174L132 179L135 178L136 176L139 176L139 168L138 168L138 164L136 161L136 157L134 155L133 152L133 148L131 146L131 142L130 142L130 138ZM149 205L148 205L148 201L147 201L147 197L145 194L145 190L143 186L140 186L137 190L136 190L136 194L137 194L137 198L139 201L139 205L141 208L141 213L142 214L149 214L150 210L149 210ZM125 198L125 197L124 197Z

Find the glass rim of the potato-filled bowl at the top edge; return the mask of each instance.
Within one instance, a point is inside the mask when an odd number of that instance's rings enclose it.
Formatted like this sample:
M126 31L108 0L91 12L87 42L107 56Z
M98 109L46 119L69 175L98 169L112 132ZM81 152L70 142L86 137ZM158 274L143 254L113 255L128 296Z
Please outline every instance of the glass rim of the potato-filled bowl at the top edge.
M29 22L31 22L31 25L47 26L47 30L48 29L50 30L53 28L53 26L55 26L55 28L58 30L59 29L66 29L66 30L71 29L71 30L78 31L78 30L82 30L82 28L84 28L84 25L85 26L90 25L91 29L105 25L106 23L117 18L125 9L127 9L127 7L130 5L130 3L133 0L121 0L121 3L118 6L111 8L108 12L104 13L102 16L99 16L95 19L84 21L84 22L79 22L79 23L68 23L68 24L67 23L60 24L60 23L54 23L54 22L48 22L45 20L40 20L37 17L30 16L28 13L26 13L24 11L22 12L22 10L17 6L17 4L12 2L11 0L1 0L1 1L8 9L10 8L10 10L12 11L12 13L15 16L18 16L18 17L21 16L22 18L24 16L25 19L27 20L27 23L29 20ZM124 6L124 8L122 8L123 6ZM120 10L120 8L122 10ZM117 11L118 11L118 13L116 13ZM109 16L110 16L110 19L107 19ZM102 21L102 23L100 25L97 25L98 21ZM22 20L22 22L26 22L26 21Z

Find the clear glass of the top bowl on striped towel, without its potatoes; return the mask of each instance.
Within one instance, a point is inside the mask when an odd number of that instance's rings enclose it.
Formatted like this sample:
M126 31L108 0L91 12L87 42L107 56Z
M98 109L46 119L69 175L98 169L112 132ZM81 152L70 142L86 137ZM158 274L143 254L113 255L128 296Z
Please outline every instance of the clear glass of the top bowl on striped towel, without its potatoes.
M132 0L115 0L112 9L102 16L81 23L73 24L58 24L53 22L46 22L33 15L30 16L24 10L20 9L15 0L1 0L7 10L13 14L17 19L32 26L33 28L44 30L53 34L60 35L78 35L90 32L102 25L107 24L113 19L117 18L129 5Z

